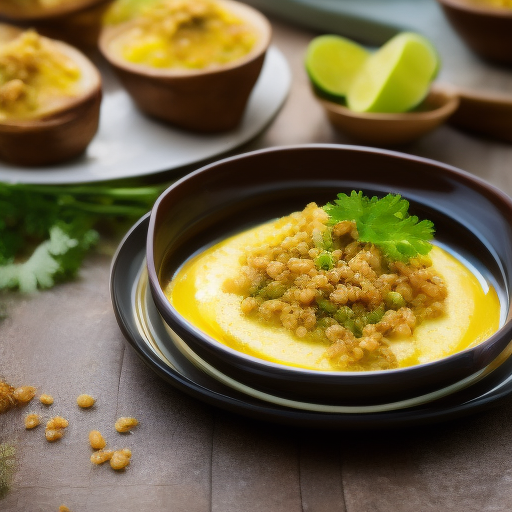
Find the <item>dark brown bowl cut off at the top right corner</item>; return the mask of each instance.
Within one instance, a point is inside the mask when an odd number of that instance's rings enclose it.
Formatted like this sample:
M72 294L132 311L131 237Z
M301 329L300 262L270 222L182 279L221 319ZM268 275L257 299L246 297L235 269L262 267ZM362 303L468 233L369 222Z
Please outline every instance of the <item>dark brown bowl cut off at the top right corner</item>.
M512 64L512 9L475 0L438 0L464 42L478 55Z

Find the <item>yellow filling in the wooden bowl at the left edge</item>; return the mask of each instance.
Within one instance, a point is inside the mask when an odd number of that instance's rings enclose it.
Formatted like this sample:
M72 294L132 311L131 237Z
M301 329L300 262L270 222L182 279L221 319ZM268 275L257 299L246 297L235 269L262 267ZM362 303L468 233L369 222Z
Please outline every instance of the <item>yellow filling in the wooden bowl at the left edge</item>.
M58 108L80 92L78 65L33 30L0 46L0 120Z

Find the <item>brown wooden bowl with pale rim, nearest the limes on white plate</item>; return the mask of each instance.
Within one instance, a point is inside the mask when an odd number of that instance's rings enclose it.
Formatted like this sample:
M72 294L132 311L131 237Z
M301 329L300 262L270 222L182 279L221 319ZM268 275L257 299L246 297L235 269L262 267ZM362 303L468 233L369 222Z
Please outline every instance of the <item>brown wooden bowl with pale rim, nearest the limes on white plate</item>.
M132 64L112 51L111 42L134 22L102 31L100 51L143 112L180 128L205 133L231 130L240 123L263 66L271 26L247 5L231 0L219 3L259 33L258 42L245 57L222 67L183 70Z

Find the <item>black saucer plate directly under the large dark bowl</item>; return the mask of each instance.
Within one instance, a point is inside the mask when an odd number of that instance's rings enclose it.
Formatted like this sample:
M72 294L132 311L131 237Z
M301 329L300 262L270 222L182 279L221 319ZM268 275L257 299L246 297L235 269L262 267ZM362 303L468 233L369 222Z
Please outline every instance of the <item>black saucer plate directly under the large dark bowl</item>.
M148 341L137 314L136 288L145 259L149 214L133 226L114 256L110 286L119 326L139 357L161 378L208 404L261 420L306 428L382 429L455 419L496 406L512 392L512 358L477 383L414 407L382 412L330 413L284 407L228 387L195 366L176 347L167 360Z

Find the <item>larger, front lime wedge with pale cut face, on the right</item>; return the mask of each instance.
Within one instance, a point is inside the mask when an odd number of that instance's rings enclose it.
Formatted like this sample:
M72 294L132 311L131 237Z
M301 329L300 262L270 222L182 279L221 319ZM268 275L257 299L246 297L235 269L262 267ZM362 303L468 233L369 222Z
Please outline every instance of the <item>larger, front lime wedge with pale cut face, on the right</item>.
M347 94L356 112L407 112L428 93L439 55L424 37L403 32L371 55Z

